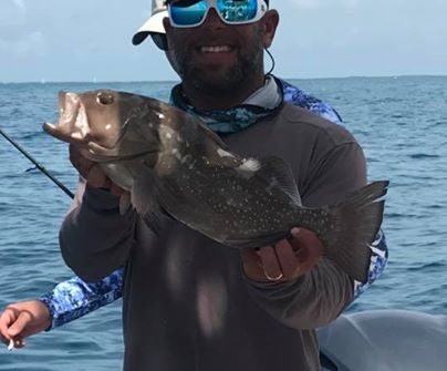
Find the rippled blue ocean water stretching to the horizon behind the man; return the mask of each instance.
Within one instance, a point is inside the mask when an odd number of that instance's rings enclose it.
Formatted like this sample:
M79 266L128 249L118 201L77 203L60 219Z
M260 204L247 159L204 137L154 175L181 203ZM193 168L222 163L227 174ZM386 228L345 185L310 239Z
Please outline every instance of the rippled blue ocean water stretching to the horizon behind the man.
M331 103L365 150L370 179L391 181L385 274L351 311L399 308L447 313L447 78L291 80ZM69 188L67 147L41 130L60 90L113 87L167 100L171 82L0 84L0 127ZM70 198L0 137L0 310L72 276L58 230ZM73 323L0 347L0 371L118 371L121 300ZM150 333L147 334L148 337Z

